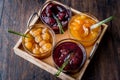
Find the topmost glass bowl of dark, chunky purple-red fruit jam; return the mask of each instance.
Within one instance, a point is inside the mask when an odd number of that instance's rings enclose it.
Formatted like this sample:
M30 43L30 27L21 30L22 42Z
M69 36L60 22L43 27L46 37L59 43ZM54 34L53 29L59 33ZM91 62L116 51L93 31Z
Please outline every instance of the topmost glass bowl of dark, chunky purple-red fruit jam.
M71 17L71 10L56 1L48 1L41 7L40 18L43 23L47 24L56 34L59 34L59 26L54 16L59 20L63 30L67 30L68 21ZM54 14L54 16L53 16Z

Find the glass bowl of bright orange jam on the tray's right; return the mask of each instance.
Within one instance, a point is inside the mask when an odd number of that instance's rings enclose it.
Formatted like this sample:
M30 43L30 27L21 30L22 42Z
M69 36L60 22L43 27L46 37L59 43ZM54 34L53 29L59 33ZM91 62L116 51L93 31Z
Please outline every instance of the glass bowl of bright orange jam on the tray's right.
M90 30L95 23L96 21L89 16L74 15L69 22L70 34L84 46L90 46L96 41L101 31L101 27Z

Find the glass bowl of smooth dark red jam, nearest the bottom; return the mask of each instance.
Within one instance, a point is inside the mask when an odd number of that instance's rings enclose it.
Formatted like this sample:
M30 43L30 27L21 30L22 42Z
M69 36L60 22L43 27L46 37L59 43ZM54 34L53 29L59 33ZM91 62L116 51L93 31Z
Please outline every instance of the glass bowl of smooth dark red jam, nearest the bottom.
M63 72L78 72L86 61L85 48L74 39L63 39L55 45L52 52L53 61L58 69L68 56L69 62L64 67Z

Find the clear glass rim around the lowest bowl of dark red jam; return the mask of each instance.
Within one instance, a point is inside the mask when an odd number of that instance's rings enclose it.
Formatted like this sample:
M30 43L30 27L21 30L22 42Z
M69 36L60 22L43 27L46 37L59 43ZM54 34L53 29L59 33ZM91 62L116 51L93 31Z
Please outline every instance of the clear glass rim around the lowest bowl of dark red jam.
M59 67L59 66L55 63L55 61L54 61L53 51L54 51L54 49L55 49L58 45L60 45L61 43L64 43L64 42L73 42L73 43L77 44L77 45L79 46L79 48L81 49L81 51L82 51L83 59L82 59L82 63L81 63L80 66L78 67L78 69L75 69L75 72L72 72L72 70L63 70L63 71L62 71L62 72L65 72L65 73L76 73L76 72L78 72L78 71L82 68L82 66L85 64L86 59L87 59L87 52L86 52L86 50L85 50L85 47L84 47L78 40L75 40L75 39L72 39L72 38L67 38L67 39L62 39L62 40L58 41L58 42L56 43L56 45L54 45L54 48L53 48L53 50L52 50L52 59L53 59L54 65L56 66L57 69L59 69L60 67Z

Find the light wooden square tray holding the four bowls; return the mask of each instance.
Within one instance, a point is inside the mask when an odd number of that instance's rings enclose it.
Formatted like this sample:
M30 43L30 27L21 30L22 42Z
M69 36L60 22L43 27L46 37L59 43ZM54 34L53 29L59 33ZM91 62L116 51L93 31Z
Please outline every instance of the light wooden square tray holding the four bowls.
M55 3L59 3L57 1L55 1ZM59 3L61 4L61 3ZM63 5L63 4L61 4ZM65 6L65 5L64 5ZM82 12L79 12L75 9L72 9L72 13L73 15L74 14L84 14ZM38 12L38 15L40 14L40 11ZM33 24L39 24L39 23L42 23L41 20L39 19L38 16L35 16L30 25L33 25ZM43 23L42 23L43 24ZM102 25L102 31L101 31L101 35L99 36L99 38L97 39L97 41L90 47L86 47L86 52L87 52L87 60L85 62L85 64L83 65L83 67L81 68L81 70L78 72L78 73L75 73L73 75L68 75L68 74L65 74L65 73L61 73L58 77L63 79L63 80L80 80L82 78L82 75L83 73L85 72L88 64L90 63L90 60L92 58L92 56L94 55L106 29L107 29L107 25L106 24L103 24ZM28 29L29 30L29 29ZM26 30L26 32L28 31ZM68 30L64 33L64 34L57 34L56 36L56 42L62 40L62 39L66 39L66 38L70 38L70 35L68 33ZM52 57L48 57L48 58L45 58L45 59L37 59L33 56L31 56L30 54L28 54L23 46L22 46L22 38L19 39L19 41L16 43L15 47L14 47L14 52L16 53L16 55L24 58L25 60L27 61L30 61L31 63L35 64L36 66L40 67L41 69L44 69L46 71L48 71L49 73L51 74L55 74L58 70L55 68L55 65L53 63L53 60L52 60Z

